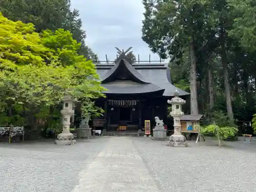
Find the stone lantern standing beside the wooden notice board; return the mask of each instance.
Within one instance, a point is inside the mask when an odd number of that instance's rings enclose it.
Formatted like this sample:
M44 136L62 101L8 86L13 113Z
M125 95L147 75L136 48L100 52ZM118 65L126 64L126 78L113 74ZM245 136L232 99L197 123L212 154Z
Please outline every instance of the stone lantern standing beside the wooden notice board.
M168 100L167 103L172 104L172 112L170 112L170 115L174 118L174 134L170 136L167 145L174 147L186 147L187 142L185 136L181 134L180 123L180 118L184 115L181 105L185 104L186 101L179 97L179 92L176 90L174 98Z

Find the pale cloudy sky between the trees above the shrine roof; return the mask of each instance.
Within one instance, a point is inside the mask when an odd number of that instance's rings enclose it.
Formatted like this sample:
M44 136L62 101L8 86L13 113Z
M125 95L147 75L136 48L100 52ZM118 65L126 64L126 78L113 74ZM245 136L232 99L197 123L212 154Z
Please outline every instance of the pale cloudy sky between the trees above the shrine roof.
M116 58L116 49L133 47L140 60L159 60L141 39L144 7L141 0L72 0L72 8L80 11L86 43L100 60Z

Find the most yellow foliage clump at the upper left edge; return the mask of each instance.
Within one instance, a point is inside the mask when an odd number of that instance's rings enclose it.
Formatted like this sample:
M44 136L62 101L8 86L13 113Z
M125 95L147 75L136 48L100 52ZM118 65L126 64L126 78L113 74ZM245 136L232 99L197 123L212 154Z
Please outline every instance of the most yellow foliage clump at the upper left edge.
M49 49L41 44L32 24L12 22L0 13L0 61L2 65L42 65ZM50 55L49 55L50 56Z

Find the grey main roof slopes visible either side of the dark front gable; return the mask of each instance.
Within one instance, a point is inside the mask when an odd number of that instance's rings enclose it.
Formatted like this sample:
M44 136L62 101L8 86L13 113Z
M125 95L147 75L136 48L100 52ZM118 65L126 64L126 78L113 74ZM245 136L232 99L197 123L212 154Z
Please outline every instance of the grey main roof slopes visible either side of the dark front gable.
M127 63L126 63L127 64ZM131 66L131 65L129 65ZM115 64L112 65L96 65L97 72L101 79L104 79L107 74L109 74L109 70L112 70L115 67ZM139 65L135 63L132 67L132 71L138 72L136 76L141 78L144 82L151 82L158 86L161 89L164 89L163 96L174 96L176 89L179 91L180 96L189 95L188 92L180 90L176 88L170 79L170 69L166 67L164 64L158 65ZM130 67L130 68L131 68ZM114 69L113 69L114 70ZM136 73L134 72L134 73ZM142 77L141 77L142 76ZM103 85L103 84L102 84Z

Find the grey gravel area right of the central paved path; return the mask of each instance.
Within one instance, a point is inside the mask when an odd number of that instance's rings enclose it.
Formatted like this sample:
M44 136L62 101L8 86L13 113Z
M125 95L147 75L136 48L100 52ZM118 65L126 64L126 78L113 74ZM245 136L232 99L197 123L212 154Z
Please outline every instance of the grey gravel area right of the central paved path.
M163 191L255 192L256 144L189 142L187 148L165 146L163 141L134 139L134 145Z

